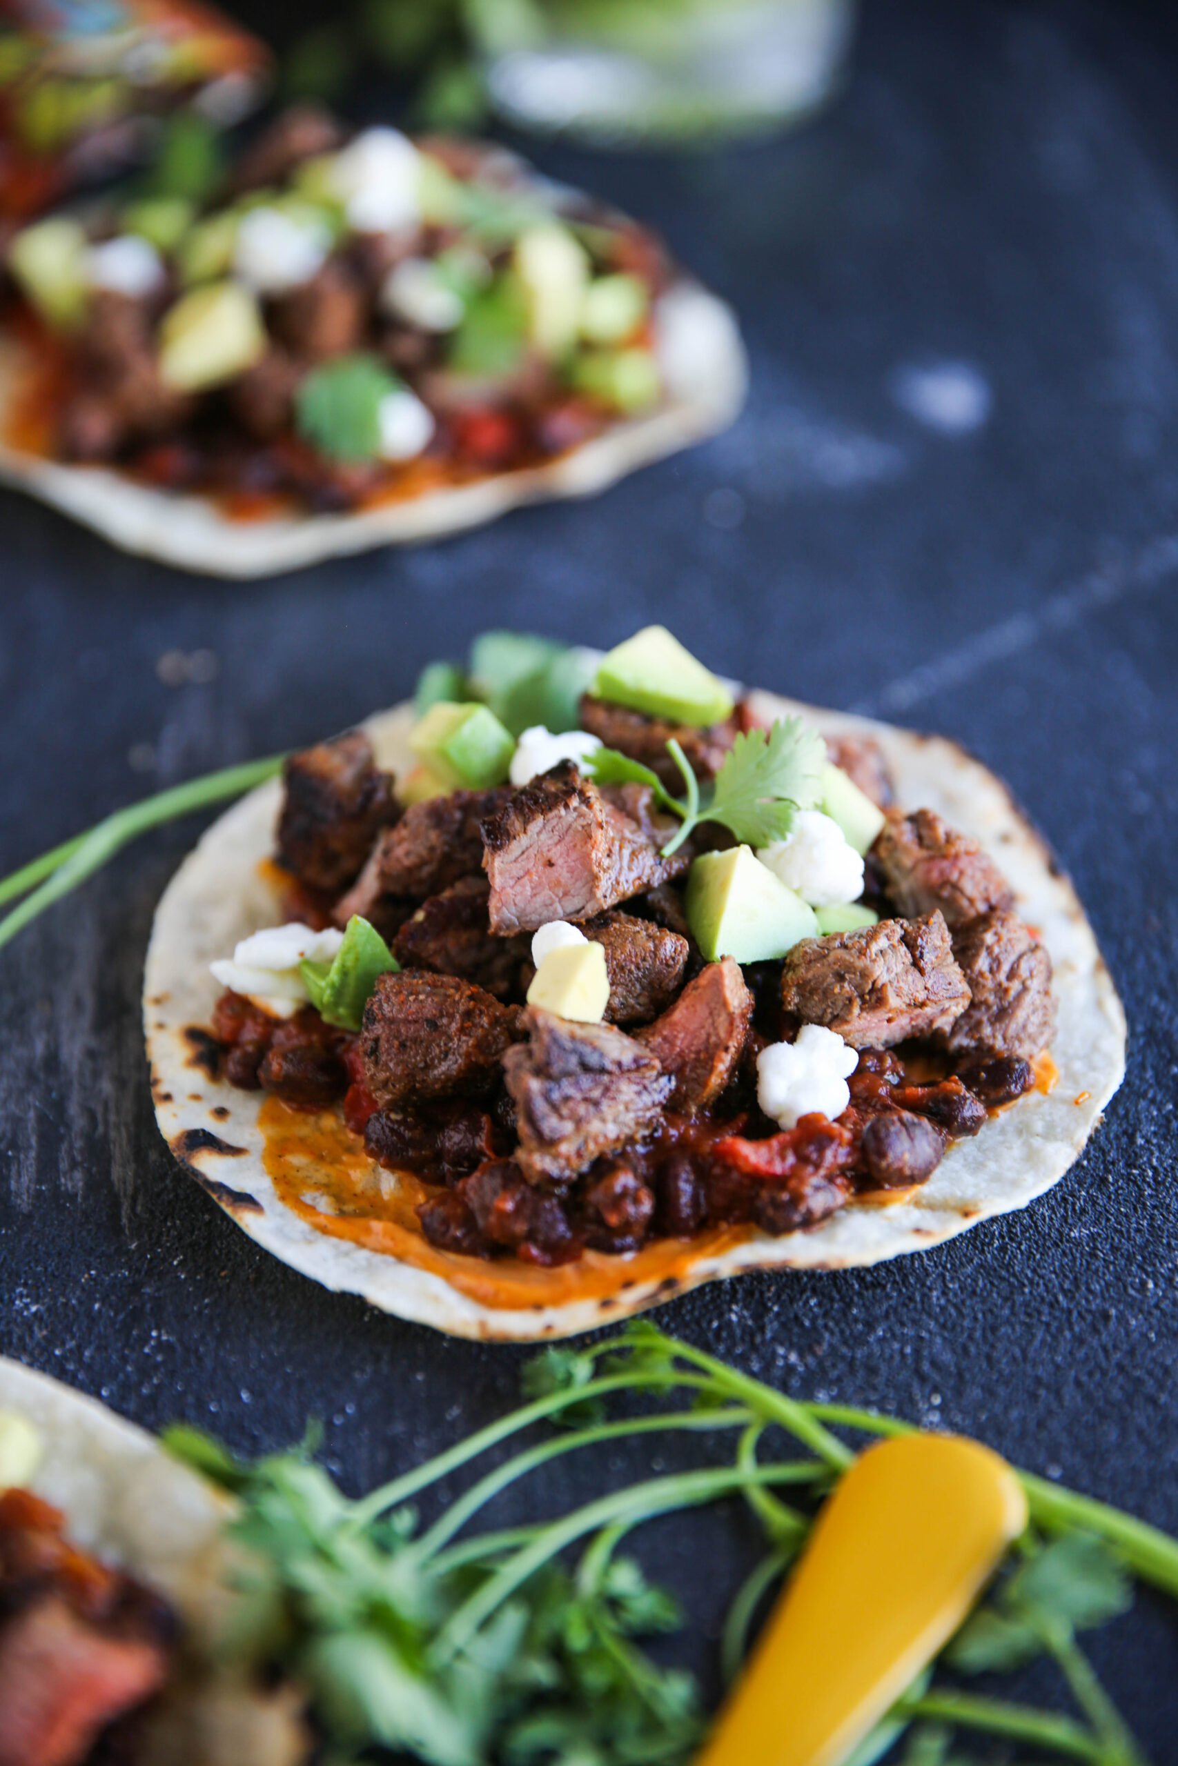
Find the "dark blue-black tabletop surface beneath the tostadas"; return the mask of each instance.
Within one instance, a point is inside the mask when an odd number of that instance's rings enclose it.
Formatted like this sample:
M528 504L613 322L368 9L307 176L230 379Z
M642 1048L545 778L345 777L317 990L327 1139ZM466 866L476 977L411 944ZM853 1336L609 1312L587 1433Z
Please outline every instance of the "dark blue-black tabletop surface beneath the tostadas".
M797 140L546 155L664 226L752 351L731 434L602 502L226 586L5 496L0 867L401 698L489 620L611 641L664 618L733 675L961 738L1058 846L1123 991L1106 1127L1026 1215L662 1317L791 1392L977 1432L1178 1531L1176 71L1144 11L925 0L871 12L846 101ZM171 1164L138 985L194 832L145 841L0 957L0 1347L245 1450L321 1416L362 1487L491 1416L519 1355L323 1293ZM655 1542L699 1635L721 1545L749 1549L714 1531L701 1577L703 1536ZM1173 1759L1171 1614L1095 1653Z

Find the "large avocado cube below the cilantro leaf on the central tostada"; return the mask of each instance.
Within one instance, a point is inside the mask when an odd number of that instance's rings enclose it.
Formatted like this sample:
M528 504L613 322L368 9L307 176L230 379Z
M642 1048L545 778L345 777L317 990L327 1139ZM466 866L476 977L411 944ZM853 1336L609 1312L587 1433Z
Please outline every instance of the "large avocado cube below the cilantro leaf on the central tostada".
M814 909L749 846L696 858L687 878L687 924L708 962L766 962L818 934Z

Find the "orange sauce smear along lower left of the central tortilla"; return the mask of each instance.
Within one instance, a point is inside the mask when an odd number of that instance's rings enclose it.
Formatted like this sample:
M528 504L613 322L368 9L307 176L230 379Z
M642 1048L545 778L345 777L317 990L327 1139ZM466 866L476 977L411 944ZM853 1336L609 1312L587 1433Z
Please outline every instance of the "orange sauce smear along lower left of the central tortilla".
M429 1270L482 1307L560 1307L608 1300L639 1282L678 1284L703 1257L731 1250L752 1234L744 1226L717 1227L691 1241L659 1240L625 1257L586 1250L555 1270L517 1257L461 1257L436 1250L420 1229L417 1206L438 1194L436 1185L376 1166L337 1109L297 1111L268 1097L258 1111L258 1127L267 1176L293 1213L330 1238Z

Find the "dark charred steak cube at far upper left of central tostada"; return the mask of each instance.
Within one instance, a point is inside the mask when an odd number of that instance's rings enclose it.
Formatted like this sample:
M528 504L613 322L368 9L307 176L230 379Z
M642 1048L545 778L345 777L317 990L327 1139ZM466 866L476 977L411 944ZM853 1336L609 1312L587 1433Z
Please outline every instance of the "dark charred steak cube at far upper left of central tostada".
M279 858L300 883L337 895L397 814L389 775L376 766L364 731L353 729L291 754L283 782Z

